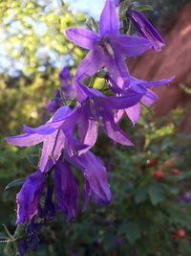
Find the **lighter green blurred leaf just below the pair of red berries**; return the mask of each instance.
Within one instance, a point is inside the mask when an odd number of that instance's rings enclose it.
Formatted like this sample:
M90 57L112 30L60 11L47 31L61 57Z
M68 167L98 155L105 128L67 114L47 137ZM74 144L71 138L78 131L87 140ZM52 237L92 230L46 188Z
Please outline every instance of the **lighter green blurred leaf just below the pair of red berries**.
M157 185L151 184L148 190L149 198L153 205L157 205L160 201L164 200L164 189Z

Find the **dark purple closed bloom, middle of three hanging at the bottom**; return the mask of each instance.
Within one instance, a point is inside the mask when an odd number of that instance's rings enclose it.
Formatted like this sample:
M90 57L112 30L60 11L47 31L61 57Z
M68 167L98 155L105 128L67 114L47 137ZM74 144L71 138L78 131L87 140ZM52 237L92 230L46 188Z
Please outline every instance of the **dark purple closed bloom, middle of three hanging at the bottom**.
M78 208L79 188L71 169L63 160L58 160L54 166L53 183L58 208L68 220L73 219Z

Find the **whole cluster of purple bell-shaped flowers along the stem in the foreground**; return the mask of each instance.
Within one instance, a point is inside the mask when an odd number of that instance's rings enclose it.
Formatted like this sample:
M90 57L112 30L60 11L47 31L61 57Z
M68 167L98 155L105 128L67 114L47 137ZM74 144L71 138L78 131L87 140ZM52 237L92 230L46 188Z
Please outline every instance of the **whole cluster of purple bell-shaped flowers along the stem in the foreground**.
M107 171L90 151L96 144L98 129L113 141L132 146L129 137L117 125L118 121L126 114L135 125L140 113L139 103L152 105L158 99L149 88L173 80L141 81L130 76L125 58L161 46L160 37L157 32L152 36L154 28L142 14L131 12L130 17L137 22L141 36L119 34L117 7L112 0L106 0L100 15L99 33L82 28L66 30L71 41L90 52L78 65L73 81L68 68L59 74L62 87L48 106L54 113L52 118L38 128L24 126L24 134L7 138L11 145L18 147L42 144L38 169L29 175L16 198L17 224L30 222L36 216L52 220L56 210L61 210L68 220L74 219L80 190L71 166L80 170L84 178L83 210L90 198L101 204L111 200ZM85 80L105 69L110 94L85 85ZM65 99L73 99L73 105L66 105ZM47 176L52 172L53 188L48 190L42 210L39 200Z

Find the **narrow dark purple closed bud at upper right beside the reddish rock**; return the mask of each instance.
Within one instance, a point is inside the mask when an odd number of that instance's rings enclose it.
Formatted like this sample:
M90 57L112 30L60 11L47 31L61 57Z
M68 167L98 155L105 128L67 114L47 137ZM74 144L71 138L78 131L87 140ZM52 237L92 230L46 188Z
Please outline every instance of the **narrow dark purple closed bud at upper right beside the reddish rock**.
M164 41L142 12L129 10L127 11L127 15L138 29L139 34L144 38L152 40L154 43L153 49L157 52L160 51L161 47L165 45Z

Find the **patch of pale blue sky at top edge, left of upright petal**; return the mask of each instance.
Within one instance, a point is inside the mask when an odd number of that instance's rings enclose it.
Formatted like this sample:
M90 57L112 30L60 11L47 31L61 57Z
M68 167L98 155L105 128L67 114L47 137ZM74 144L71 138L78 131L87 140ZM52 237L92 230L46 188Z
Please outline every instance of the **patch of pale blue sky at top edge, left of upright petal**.
M105 0L65 0L65 2L70 4L72 11L88 12L97 18Z

